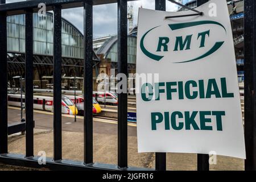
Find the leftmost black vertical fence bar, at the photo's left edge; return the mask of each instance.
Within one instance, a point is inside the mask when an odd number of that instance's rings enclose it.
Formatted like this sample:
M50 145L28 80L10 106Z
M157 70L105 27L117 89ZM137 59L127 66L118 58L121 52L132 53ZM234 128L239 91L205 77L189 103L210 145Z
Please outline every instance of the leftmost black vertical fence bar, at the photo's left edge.
M0 4L4 3L5 0L0 0ZM0 22L0 154L3 154L8 152L6 13L0 13Z

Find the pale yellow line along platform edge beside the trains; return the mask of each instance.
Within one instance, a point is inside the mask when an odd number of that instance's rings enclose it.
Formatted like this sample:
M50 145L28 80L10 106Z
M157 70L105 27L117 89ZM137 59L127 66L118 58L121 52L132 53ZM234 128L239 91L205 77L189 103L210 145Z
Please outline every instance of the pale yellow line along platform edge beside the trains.
M9 109L20 110L20 107L8 106L8 108L9 108ZM53 113L50 112L50 111L35 110L35 109L34 109L34 113L53 115ZM69 115L69 114L62 114L62 116L63 116L63 117L68 117L68 118L75 118L75 115ZM76 118L84 119L84 117L81 116L81 115L77 115ZM117 122L111 121L111 120L109 120L109 119L93 118L93 121L102 122L102 123L110 123L110 124L115 124L115 125L117 125ZM127 125L128 125L128 126L134 126L134 127L137 126L137 124L133 124L133 123L128 123Z

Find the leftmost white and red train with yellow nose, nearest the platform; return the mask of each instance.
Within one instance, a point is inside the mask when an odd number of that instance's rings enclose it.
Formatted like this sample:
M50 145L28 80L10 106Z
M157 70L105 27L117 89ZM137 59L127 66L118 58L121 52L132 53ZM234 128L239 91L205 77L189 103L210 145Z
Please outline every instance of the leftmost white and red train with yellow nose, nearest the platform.
M46 110L51 112L53 111L53 97L34 95L33 99L34 99L34 109ZM20 107L20 102L21 102L20 94L8 94L7 101L9 106ZM25 98L22 98L22 102L24 107ZM61 96L61 113L71 114L71 115L78 114L78 110L74 102L66 96Z

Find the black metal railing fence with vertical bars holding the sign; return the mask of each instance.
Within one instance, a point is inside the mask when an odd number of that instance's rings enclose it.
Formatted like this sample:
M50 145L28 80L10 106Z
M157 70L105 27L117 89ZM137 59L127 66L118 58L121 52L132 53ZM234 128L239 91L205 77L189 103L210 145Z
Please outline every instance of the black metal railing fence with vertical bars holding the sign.
M49 169L110 169L110 170L149 170L127 166L127 94L118 94L118 164L93 162L93 5L118 3L118 73L127 76L127 0L44 0L47 11L53 10L53 159L47 158L46 165L38 164L34 156L33 118L33 30L32 13L38 11L40 0L5 3L0 0L0 162L26 167L46 167ZM207 2L198 0L197 6ZM84 7L84 162L62 159L61 151L61 9ZM166 10L166 0L155 0L156 10ZM256 168L256 2L245 0L245 139L246 170ZM7 124L7 31L6 17L26 14L26 156L8 153ZM104 18L104 17L102 17ZM249 40L249 41L246 41ZM86 93L86 94L85 94ZM156 153L155 169L166 170L166 153ZM209 170L209 155L197 155L197 169Z

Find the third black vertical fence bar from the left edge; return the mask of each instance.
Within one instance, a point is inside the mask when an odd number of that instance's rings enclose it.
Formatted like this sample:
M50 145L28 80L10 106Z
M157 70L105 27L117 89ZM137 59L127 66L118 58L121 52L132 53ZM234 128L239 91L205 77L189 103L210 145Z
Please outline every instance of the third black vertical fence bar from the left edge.
M53 12L53 159L61 160L61 6L54 6Z

